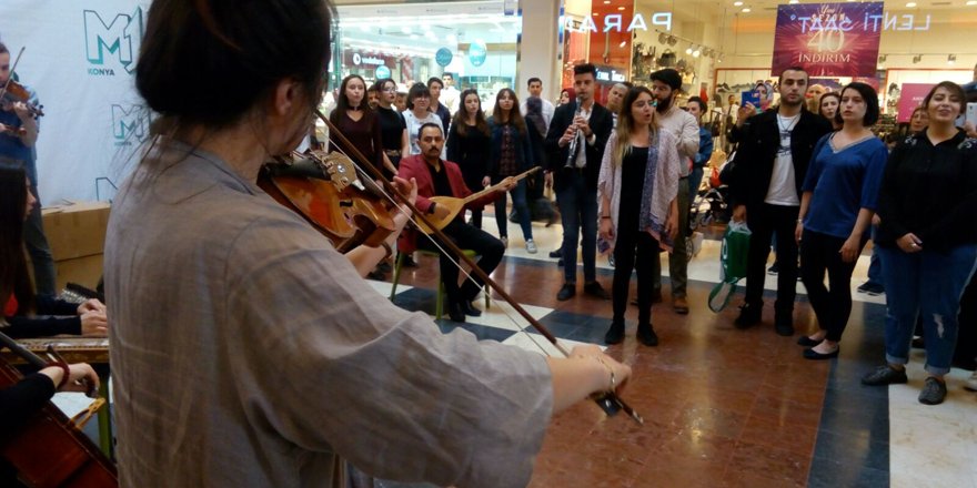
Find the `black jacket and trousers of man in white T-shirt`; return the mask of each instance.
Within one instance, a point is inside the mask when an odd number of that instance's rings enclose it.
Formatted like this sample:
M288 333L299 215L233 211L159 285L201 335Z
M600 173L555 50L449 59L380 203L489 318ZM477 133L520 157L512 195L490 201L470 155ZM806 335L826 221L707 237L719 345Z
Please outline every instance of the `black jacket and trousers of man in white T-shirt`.
M832 131L827 119L802 108L800 119L790 131L790 156L794 165L794 185L797 197L807 174L807 166L817 141ZM794 298L797 295L797 226L799 205L765 203L774 163L780 146L780 126L777 111L768 110L747 119L743 128L734 131L733 139L739 143L736 151L729 194L735 204L746 205L746 221L753 232L746 265L746 303L763 305L763 291L770 241L777 236L777 301L774 305L778 324L790 323Z

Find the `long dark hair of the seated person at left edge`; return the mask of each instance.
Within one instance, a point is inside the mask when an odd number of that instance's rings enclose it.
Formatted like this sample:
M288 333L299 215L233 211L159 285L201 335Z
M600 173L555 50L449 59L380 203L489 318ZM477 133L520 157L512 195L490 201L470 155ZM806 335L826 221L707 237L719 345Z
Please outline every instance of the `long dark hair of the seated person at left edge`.
M0 166L0 309L13 294L17 297L14 315L27 315L34 305L34 288L23 255L27 192L23 169Z

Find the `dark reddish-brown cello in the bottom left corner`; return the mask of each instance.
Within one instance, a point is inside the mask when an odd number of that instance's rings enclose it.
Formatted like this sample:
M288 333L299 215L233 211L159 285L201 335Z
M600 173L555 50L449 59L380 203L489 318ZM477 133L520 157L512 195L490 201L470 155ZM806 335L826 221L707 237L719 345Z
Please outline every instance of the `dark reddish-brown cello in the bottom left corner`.
M37 368L48 364L0 333L0 344ZM0 359L0 388L21 379L20 373ZM36 488L109 488L119 486L112 464L64 414L48 403L20 430L6 435L0 451L27 486Z

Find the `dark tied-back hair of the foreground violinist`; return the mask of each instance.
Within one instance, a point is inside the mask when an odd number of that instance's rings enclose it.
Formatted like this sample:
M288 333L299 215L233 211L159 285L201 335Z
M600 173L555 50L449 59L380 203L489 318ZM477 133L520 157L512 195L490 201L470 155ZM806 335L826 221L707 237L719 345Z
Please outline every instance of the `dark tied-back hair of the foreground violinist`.
M285 79L300 83L314 108L332 18L329 0L155 0L135 88L167 120L159 128L233 125Z

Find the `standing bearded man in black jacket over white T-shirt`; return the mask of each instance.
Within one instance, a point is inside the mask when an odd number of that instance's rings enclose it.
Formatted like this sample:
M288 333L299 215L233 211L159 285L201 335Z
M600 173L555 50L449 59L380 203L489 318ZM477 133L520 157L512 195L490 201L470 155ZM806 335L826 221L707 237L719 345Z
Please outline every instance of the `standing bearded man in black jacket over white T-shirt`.
M807 174L815 144L832 131L830 122L805 108L807 80L803 68L784 70L779 79L779 106L753 115L755 106L744 104L739 109L736 129L731 133L733 141L739 143L729 182L733 220L746 220L753 232L746 265L746 301L735 322L738 328L761 322L764 267L770 253L770 237L776 233L780 268L774 326L779 335L794 335L794 298L797 294L794 231L800 210L800 184Z

